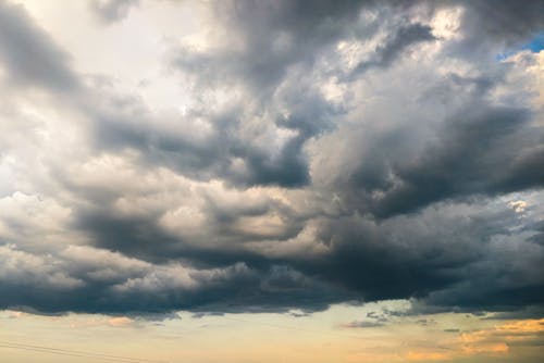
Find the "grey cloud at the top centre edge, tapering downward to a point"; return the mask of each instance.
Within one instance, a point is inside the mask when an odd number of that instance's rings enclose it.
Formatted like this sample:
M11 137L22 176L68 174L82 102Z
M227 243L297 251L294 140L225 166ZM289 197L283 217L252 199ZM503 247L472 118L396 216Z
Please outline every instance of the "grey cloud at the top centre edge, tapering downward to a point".
M305 1L283 0L218 3L214 11L224 26L240 37L246 47L242 52L210 54L203 64L208 74L233 74L242 77L254 93L269 97L289 66L311 64L324 48L346 35L364 5L364 1L350 0L317 1L312 7ZM183 57L177 59L178 65L185 67ZM202 60L197 58L191 64L202 64Z

